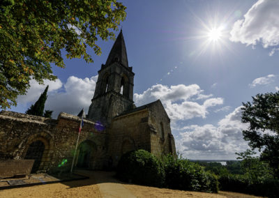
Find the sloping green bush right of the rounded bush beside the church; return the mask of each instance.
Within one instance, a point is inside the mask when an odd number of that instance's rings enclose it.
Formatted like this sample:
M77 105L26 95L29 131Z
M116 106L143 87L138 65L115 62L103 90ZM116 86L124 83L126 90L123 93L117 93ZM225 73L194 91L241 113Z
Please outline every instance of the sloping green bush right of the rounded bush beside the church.
M167 155L163 158L167 188L218 192L218 180L195 162Z

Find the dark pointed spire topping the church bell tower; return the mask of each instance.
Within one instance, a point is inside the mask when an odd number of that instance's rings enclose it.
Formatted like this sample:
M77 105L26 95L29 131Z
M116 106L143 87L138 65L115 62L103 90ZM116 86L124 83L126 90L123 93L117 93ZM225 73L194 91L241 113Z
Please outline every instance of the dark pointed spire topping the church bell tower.
M107 62L105 64L108 66L114 62L120 62L123 66L128 68L127 52L122 29L112 46L112 50L110 50L110 55L107 57Z

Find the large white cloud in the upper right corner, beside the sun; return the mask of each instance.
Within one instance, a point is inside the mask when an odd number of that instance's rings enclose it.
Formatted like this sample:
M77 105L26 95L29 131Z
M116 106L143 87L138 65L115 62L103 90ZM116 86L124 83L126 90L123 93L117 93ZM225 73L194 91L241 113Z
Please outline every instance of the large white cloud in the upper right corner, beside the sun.
M278 10L277 0L257 1L244 15L244 19L234 23L229 39L246 45L260 43L265 48L279 45Z

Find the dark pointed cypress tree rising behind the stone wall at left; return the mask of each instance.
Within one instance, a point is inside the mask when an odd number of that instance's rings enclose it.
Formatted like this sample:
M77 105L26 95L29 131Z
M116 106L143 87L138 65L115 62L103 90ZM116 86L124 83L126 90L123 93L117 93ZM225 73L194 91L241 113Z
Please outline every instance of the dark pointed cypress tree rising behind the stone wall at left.
M45 109L45 100L47 100L47 89L48 89L48 85L45 88L45 91L42 94L40 94L40 98L37 100L37 102L35 102L34 105L31 105L31 107L27 109L27 111L25 112L26 114L30 114L34 116L43 116L43 110ZM52 111L50 112L52 113ZM47 115L49 114L50 113L47 113Z

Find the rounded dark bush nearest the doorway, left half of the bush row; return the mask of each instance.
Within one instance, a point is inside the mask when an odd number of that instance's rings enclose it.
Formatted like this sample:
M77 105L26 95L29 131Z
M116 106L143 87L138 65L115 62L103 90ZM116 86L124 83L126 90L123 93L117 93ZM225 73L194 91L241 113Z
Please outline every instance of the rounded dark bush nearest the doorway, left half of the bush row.
M161 162L144 150L131 151L122 155L116 169L116 176L122 181L161 187L165 181Z

